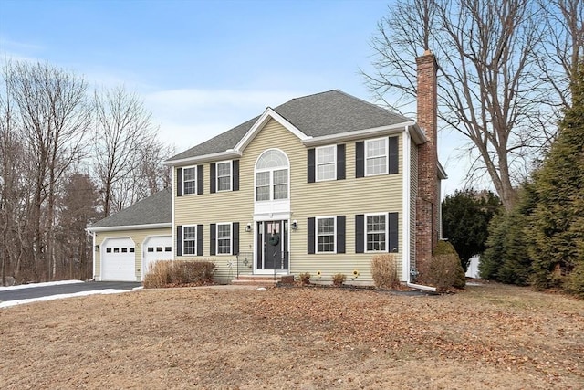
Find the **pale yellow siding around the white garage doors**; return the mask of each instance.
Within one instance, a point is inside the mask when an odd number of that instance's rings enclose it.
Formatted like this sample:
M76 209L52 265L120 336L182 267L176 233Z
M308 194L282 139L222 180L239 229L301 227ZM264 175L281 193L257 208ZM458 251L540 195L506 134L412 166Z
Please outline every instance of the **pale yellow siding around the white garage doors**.
M156 229L140 229L140 230L118 230L118 231L100 231L95 235L95 243L99 247L103 247L103 242L106 238L126 238L130 237L134 244L136 244L134 252L134 269L136 270L136 281L141 281L142 278L142 243L147 237L151 236L170 236L171 229L156 228ZM95 248L94 248L95 250ZM95 272L94 278L101 278L101 251L95 251Z

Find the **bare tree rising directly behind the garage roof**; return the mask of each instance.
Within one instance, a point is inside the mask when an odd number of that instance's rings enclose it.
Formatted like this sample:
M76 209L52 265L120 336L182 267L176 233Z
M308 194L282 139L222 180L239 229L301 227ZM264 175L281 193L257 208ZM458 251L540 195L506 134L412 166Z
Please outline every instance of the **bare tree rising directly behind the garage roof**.
M102 192L103 216L130 206L135 174L143 163L143 150L156 141L151 113L134 93L119 87L95 93L94 169ZM130 192L130 193L129 193Z

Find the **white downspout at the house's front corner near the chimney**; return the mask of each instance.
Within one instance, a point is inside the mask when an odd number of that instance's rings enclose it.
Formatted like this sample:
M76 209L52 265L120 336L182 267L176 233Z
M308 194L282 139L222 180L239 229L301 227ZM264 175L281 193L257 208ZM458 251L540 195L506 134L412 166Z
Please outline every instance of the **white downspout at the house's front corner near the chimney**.
M410 136L410 125L405 127L405 131L403 132L403 260L401 275L403 279L406 280L406 286L415 289L415 290L423 290L423 291L431 291L436 292L435 287L431 286L424 286L422 284L415 284L412 283L412 272L410 272L410 217L412 213L412 199L411 199L411 185L412 185L412 171L411 171L411 163L412 163L412 141ZM418 156L418 158L420 158ZM418 189L419 190L419 189ZM414 207L415 210L415 207ZM406 217L407 216L407 217ZM407 242L407 245L405 244Z

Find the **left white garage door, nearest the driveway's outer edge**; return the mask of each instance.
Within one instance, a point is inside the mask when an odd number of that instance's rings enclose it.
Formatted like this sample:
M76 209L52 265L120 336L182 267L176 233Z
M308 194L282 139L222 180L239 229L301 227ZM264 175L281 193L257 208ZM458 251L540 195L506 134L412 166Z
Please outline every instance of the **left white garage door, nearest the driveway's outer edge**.
M101 280L136 281L135 248L131 238L107 238L101 246Z

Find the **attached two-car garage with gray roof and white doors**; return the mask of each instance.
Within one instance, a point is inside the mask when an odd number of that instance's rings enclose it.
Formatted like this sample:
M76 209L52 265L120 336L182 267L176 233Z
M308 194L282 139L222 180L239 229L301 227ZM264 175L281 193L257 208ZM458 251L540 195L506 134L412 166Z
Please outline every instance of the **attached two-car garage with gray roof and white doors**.
M167 188L88 227L93 279L140 281L150 264L172 259L171 207Z

